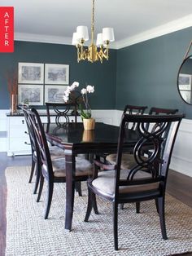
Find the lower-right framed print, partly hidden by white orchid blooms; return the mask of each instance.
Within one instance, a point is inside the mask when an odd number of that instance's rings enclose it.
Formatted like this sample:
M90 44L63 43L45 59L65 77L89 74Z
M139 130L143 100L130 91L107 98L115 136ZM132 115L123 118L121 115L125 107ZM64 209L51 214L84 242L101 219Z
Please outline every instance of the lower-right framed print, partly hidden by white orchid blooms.
M68 86L45 86L45 103L64 103L63 95Z

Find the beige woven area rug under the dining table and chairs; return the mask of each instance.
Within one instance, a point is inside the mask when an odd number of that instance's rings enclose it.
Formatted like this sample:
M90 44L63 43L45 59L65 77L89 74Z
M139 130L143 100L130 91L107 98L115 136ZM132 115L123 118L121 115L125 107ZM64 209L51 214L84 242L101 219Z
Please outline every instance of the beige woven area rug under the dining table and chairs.
M192 209L172 196L166 197L168 241L161 237L155 202L143 202L141 214L135 205L119 211L119 251L114 250L112 205L98 198L99 215L85 223L86 184L83 196L76 194L72 232L64 229L65 183L55 183L50 216L43 218L46 186L41 202L28 183L30 167L9 167L7 177L6 255L173 255L192 251Z

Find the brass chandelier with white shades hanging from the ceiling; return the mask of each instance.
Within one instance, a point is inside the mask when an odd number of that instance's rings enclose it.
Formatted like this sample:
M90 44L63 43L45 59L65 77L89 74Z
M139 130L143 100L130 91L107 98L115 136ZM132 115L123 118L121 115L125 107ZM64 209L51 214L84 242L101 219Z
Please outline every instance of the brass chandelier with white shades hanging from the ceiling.
M109 59L109 42L115 41L112 28L103 28L103 33L98 33L96 45L94 44L94 0L92 6L91 19L91 44L84 46L85 41L89 40L88 28L86 26L76 27L76 32L72 35L72 45L76 46L77 62L88 60L91 63L103 59Z

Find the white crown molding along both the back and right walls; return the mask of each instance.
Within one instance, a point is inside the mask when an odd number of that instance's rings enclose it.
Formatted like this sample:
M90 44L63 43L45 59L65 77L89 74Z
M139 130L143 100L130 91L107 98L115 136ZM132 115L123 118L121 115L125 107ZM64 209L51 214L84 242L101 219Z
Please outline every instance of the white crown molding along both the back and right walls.
M117 42L112 42L110 44L111 49L120 49L126 46L131 46L138 42L144 42L152 38L158 38L168 33L176 32L181 29L186 29L192 26L192 15L186 15L185 17L168 22L167 24L155 27L154 29L146 30L143 33L138 33L137 35ZM46 43L56 43L72 45L72 38L56 37L42 34L34 33L15 33L16 41L27 41L27 42L46 42Z

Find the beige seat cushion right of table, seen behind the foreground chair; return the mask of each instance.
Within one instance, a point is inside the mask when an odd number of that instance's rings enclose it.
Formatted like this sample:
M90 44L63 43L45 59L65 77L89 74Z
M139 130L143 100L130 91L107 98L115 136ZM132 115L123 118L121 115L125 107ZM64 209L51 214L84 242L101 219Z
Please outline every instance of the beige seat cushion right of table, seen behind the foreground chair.
M106 160L111 164L111 165L116 165L116 154L110 154L106 157ZM122 159L121 159L121 169L131 169L133 166L135 166L135 160L133 155L129 153L124 153L122 154Z

